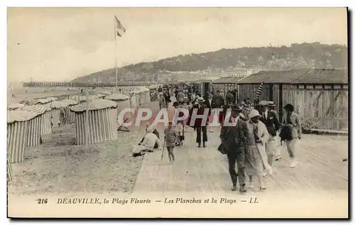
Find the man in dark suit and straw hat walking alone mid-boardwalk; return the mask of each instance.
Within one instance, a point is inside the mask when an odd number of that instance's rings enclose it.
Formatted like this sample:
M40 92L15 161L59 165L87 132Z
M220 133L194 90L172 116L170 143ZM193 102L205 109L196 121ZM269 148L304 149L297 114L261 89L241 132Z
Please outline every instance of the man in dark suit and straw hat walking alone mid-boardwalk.
M192 116L193 116L193 111L194 109L197 109L197 114L195 114L196 119L195 123L192 124ZM207 114L205 114L205 111L207 111ZM192 106L192 109L190 109L190 116L187 124L197 131L197 137L196 137L196 143L198 143L198 148L201 148L201 134L202 134L202 141L203 141L203 148L206 148L206 142L207 142L207 123L209 122L209 109L207 106L204 104L204 98L199 97L197 99L197 104Z

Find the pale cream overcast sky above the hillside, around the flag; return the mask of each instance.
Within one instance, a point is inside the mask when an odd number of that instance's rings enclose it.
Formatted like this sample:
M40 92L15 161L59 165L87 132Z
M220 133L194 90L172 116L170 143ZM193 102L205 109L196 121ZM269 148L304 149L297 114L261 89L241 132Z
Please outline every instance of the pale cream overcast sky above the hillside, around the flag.
M62 81L221 48L347 43L346 9L9 9L8 80Z

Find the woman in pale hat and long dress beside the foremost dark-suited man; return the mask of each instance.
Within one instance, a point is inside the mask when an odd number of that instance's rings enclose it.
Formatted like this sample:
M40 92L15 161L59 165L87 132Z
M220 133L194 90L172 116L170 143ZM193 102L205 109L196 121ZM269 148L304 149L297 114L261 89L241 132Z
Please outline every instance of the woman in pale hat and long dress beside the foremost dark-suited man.
M253 188L253 177L258 178L260 190L266 190L263 177L263 160L261 151L265 151L265 143L268 141L268 130L261 121L260 114L256 109L251 110L250 120L246 122L249 131L249 138L246 144L246 175L249 176L249 187Z

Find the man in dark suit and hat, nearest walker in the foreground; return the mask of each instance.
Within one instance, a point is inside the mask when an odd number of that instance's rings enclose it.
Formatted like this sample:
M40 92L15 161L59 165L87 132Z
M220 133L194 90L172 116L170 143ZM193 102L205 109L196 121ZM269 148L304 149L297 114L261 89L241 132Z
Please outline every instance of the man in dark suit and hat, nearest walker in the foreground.
M236 181L238 177L240 186L239 192L245 193L244 158L246 138L249 137L249 131L246 122L239 119L240 113L240 106L234 105L231 107L231 116L226 115L229 117L229 123L223 124L219 138L221 138L222 146L228 158L229 175L231 175L231 182L233 184L231 190L236 191ZM236 165L238 166L238 175L235 169Z

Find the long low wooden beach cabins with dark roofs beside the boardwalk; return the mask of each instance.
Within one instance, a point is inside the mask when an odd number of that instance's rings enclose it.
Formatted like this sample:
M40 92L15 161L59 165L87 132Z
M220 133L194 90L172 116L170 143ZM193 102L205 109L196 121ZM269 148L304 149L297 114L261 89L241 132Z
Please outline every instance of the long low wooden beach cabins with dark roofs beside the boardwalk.
M274 101L280 116L289 103L295 106L304 128L348 130L347 70L261 71L239 80L239 99L254 99L261 83L260 99Z

